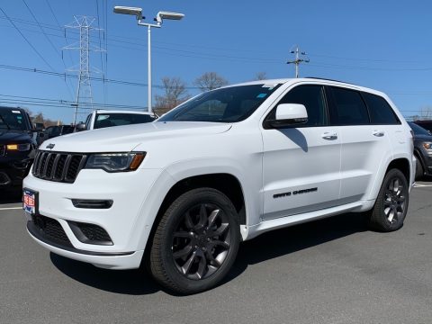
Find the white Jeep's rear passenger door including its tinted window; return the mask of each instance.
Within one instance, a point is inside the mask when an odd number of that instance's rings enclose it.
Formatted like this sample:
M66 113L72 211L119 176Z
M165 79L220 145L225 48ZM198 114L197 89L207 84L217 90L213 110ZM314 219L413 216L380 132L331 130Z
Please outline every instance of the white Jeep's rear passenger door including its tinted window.
M338 126L341 148L341 203L367 199L377 172L392 155L389 130L374 125L360 91L338 86L326 88L330 102L330 124Z

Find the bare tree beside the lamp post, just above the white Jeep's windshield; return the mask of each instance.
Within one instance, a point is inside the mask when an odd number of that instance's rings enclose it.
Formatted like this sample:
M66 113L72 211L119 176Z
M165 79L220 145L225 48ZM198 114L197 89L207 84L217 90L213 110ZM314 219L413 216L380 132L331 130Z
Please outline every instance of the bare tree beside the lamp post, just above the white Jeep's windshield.
M162 85L164 86L164 94L155 95L156 103L154 111L158 115L170 111L175 106L189 99L186 83L180 77L165 76L162 78Z

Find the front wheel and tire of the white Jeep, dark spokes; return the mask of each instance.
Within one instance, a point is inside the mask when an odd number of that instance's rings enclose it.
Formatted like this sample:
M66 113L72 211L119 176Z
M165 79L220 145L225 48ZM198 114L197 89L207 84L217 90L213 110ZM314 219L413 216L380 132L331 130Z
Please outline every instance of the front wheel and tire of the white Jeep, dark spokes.
M193 189L168 207L151 242L149 267L159 284L181 294L219 284L239 245L238 213L212 188Z

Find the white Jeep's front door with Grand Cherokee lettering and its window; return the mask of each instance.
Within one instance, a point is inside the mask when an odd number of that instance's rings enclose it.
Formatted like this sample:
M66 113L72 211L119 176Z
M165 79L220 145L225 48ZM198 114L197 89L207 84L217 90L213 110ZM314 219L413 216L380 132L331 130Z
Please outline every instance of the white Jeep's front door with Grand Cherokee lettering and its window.
M262 130L264 220L338 205L341 142L329 126L324 87L297 85L280 103L304 104L308 122ZM275 108L266 118L275 119Z

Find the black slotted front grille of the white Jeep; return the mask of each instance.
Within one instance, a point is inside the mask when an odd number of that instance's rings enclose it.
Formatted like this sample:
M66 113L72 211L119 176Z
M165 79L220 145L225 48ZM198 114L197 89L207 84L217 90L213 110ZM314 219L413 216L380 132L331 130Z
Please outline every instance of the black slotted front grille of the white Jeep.
M85 160L85 154L38 151L31 173L40 179L73 183Z

